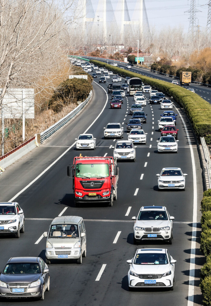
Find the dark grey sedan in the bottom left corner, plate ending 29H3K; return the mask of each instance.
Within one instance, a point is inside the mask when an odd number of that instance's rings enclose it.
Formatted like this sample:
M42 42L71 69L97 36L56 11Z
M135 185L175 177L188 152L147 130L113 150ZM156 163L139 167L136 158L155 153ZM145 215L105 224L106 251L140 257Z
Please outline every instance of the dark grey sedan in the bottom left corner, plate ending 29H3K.
M50 289L49 269L40 257L12 257L0 272L0 297L44 300Z

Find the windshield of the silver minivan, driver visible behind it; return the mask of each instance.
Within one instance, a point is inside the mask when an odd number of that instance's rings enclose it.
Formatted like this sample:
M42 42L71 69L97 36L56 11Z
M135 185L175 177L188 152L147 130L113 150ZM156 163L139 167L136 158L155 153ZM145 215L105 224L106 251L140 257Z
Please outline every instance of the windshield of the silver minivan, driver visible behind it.
M76 224L53 224L50 228L49 238L78 238L78 226Z

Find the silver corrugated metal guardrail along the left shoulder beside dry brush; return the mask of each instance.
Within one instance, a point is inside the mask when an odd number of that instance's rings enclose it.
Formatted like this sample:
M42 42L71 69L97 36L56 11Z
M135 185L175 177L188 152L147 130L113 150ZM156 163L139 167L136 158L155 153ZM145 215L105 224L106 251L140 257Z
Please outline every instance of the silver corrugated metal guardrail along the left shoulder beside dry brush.
M65 125L68 121L70 121L70 119L72 119L76 114L78 114L80 110L82 110L82 108L89 102L91 97L92 97L92 91L90 91L88 98L84 102L80 103L79 106L77 106L74 110L72 110L72 112L70 112L64 118L57 121L54 125L50 126L50 128L46 129L44 132L37 134L37 139L40 140L40 144L42 144L44 140L46 140L48 137L54 134L58 129L60 129L63 125Z

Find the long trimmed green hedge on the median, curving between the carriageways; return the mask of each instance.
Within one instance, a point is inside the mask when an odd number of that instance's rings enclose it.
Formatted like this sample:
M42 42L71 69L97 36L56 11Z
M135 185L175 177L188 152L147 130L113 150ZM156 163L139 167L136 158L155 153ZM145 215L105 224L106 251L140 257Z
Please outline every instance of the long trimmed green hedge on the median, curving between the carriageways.
M194 132L198 137L205 137L206 135L211 134L211 105L199 95L175 84L153 79L104 62L97 60L90 60L90 62L98 65L98 67L105 67L106 69L122 76L141 77L143 83L165 92L170 97L172 96L174 100L183 106L191 124L193 125Z

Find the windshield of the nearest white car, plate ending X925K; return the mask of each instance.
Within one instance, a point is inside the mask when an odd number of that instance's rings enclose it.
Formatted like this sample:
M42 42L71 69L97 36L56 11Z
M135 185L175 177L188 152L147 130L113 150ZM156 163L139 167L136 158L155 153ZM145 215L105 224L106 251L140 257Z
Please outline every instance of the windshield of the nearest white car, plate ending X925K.
M165 253L137 253L135 265L165 265L168 263Z

